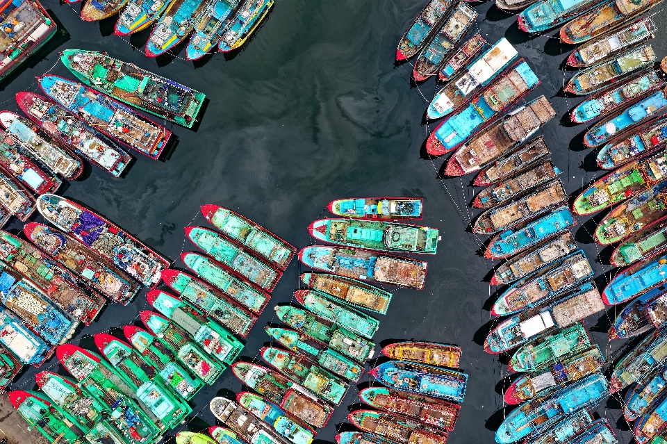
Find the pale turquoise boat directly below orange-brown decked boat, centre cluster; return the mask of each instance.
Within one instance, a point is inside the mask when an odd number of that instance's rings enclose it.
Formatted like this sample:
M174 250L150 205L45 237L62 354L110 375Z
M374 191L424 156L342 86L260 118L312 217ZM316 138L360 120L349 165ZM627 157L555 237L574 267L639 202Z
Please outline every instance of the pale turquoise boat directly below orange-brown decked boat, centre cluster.
M380 326L379 320L317 290L297 290L294 296L306 309L365 338L372 338Z

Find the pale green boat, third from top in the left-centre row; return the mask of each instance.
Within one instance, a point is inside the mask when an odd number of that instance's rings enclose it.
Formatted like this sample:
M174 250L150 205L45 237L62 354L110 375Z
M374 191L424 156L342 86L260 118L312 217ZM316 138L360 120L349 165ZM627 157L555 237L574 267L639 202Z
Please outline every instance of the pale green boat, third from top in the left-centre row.
M186 252L181 254L181 261L199 278L204 279L229 299L238 302L256 315L262 313L271 299L271 295L256 288L249 281L237 277L226 265L204 254Z

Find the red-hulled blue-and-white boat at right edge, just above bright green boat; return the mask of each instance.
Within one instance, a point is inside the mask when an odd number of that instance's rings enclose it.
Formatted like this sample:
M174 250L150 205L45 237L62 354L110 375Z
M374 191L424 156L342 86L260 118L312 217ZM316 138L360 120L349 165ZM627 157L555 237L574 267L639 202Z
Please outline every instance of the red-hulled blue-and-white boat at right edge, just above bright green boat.
M645 122L623 140L612 140L598 152L598 166L605 170L625 165L630 161L664 148L667 140L667 118Z

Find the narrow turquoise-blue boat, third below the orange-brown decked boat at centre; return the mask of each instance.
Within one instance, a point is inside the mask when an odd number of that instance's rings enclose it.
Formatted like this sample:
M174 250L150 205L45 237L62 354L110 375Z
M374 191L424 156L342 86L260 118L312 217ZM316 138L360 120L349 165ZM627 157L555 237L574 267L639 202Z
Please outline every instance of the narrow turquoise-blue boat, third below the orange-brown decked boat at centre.
M269 336L277 340L283 347L302 354L308 359L312 359L322 365L322 368L334 372L338 376L356 382L363 375L363 367L361 365L298 331L272 327L265 327L265 330Z

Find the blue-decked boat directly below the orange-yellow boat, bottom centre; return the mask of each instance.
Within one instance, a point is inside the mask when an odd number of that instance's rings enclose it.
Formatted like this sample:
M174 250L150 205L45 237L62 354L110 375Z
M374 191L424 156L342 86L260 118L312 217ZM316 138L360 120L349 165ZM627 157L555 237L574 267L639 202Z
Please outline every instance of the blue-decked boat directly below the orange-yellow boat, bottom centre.
M388 388L454 402L463 402L468 385L463 372L409 361L388 361L368 373Z

